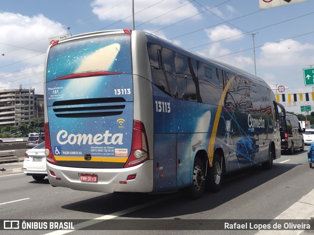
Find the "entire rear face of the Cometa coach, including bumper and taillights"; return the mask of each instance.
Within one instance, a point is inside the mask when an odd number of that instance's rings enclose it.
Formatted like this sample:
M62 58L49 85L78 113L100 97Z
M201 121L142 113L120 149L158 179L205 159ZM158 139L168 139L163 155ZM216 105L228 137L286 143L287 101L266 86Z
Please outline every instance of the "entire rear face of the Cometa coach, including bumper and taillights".
M131 34L123 30L72 37L50 48L45 135L52 185L152 191L145 127L133 120L131 62Z

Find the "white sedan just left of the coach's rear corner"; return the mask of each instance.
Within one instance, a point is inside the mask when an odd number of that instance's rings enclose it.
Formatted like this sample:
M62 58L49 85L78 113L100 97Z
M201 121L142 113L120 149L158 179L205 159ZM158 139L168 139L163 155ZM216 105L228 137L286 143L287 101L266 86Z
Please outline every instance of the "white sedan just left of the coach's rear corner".
M47 176L45 142L27 150L23 162L24 175L42 181Z

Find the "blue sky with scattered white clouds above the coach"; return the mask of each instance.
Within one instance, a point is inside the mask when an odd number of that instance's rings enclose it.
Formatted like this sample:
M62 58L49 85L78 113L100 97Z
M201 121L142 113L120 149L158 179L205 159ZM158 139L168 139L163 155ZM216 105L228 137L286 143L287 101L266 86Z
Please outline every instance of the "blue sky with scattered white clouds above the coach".
M0 90L22 86L44 94L49 38L131 29L131 9L132 0L1 0ZM135 30L251 74L256 68L275 94L286 95L280 103L295 113L306 102L288 104L288 93L314 89L303 74L314 68L313 22L314 0L264 10L258 0L134 0ZM314 101L308 104L314 111Z

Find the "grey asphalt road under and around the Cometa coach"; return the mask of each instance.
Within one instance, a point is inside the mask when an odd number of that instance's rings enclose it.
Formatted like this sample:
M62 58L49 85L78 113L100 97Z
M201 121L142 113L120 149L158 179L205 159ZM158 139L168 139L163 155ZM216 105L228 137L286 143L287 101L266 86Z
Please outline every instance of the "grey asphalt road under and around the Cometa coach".
M20 162L21 164L21 162ZM71 232L70 234L121 234L137 235L268 235L268 234L313 234L313 231L257 231L257 230L202 230L214 219L230 221L243 219L305 219L314 216L314 169L309 167L306 152L284 155L274 161L273 169L262 170L261 166L231 174L225 178L224 186L218 193L206 193L200 200L190 201L183 192L147 195L131 193L97 193L75 191L69 188L52 187L48 180L36 182L21 172L21 165L8 165L11 169L0 172L0 219L82 219L88 224L102 219L114 224L117 231L97 230L103 223L96 223L93 231ZM15 169L15 170L13 170ZM140 220L138 220L140 219ZM149 222L143 219L150 219ZM118 221L120 220L120 221ZM128 221L127 221L128 220ZM145 231L123 230L133 220L135 228ZM179 221L179 222L178 222ZM183 223L182 223L183 221ZM76 220L76 223L81 221ZM155 224L151 224L155 223ZM181 224L182 227L179 227ZM86 226L81 224L81 226ZM130 224L129 224L130 225ZM96 227L95 227L96 226ZM108 224L107 224L108 226ZM146 226L146 227L145 227ZM171 228L171 231L160 231ZM180 230L190 226L194 230ZM154 228L154 230L152 230ZM313 228L313 227L312 227ZM133 228L134 229L134 228ZM195 231L198 230L198 231ZM5 232L5 233L3 233ZM52 231L19 231L19 234L43 235ZM58 231L53 234L67 234ZM0 234L16 234L16 231L0 231Z

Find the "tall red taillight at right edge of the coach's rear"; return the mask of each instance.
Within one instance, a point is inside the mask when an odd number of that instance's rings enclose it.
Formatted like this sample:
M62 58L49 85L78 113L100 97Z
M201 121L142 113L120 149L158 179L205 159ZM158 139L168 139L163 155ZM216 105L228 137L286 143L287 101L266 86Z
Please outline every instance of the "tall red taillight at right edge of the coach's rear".
M124 167L136 166L149 159L148 142L144 124L133 121L132 150Z

